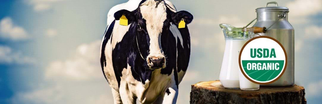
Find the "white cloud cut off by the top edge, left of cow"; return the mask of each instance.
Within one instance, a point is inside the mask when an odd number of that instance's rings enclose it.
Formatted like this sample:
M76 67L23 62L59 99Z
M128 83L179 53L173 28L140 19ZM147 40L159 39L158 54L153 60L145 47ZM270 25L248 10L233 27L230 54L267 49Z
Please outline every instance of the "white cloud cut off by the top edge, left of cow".
M37 12L49 10L53 5L63 0L28 0L28 3L33 5L33 9Z

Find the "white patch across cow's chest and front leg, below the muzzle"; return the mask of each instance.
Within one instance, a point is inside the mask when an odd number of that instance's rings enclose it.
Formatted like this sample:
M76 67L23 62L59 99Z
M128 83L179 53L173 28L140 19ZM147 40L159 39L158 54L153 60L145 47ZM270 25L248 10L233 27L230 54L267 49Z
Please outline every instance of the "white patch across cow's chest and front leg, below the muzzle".
M169 76L160 74L160 72L161 70L153 71L151 80L145 80L145 84L142 84L142 82L134 79L131 67L128 64L127 68L124 68L122 71L119 88L120 98L122 98L123 103L131 103L131 101L134 100L132 98L134 96L137 97L141 103L153 103L153 101L160 96L160 93L162 93L161 95L163 96L169 87L176 88L174 71L172 71ZM170 98L173 97L170 96Z

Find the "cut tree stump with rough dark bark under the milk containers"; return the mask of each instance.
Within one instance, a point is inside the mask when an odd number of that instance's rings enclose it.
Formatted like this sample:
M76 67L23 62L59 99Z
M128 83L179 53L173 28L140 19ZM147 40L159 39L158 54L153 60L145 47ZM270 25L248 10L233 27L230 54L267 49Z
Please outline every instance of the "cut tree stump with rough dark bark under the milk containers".
M260 87L257 91L225 89L219 80L191 85L190 104L306 104L304 87Z

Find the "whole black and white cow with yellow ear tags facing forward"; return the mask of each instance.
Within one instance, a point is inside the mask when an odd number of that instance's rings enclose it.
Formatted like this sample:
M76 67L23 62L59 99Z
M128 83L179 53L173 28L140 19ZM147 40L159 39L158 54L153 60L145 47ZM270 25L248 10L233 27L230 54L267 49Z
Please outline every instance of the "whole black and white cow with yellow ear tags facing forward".
M131 0L130 0L131 1ZM133 11L119 10L106 29L101 45L101 67L112 88L114 103L176 103L178 85L190 58L190 34L183 19L164 0L142 0ZM125 15L128 26L120 25Z

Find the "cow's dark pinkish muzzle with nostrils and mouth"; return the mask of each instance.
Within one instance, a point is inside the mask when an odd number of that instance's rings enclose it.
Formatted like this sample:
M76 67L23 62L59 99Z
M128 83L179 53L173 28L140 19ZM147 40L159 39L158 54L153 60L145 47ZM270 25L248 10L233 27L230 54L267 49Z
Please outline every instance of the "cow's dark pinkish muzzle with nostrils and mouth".
M147 65L150 69L161 69L166 67L166 58L165 57L148 57Z

